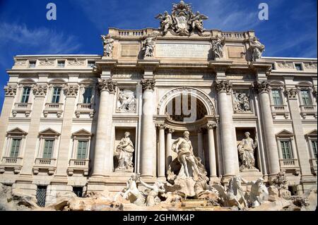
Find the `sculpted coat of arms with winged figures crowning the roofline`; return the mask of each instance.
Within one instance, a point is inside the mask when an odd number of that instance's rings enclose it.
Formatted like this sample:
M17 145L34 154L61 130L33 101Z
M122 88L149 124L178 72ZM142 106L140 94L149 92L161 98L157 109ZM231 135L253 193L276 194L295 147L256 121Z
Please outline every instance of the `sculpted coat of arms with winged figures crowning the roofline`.
M163 31L163 35L168 30L173 35L192 35L192 33L203 35L203 20L208 19L200 12L193 13L190 4L186 4L184 1L173 4L171 15L165 11L155 18L160 20L160 30Z

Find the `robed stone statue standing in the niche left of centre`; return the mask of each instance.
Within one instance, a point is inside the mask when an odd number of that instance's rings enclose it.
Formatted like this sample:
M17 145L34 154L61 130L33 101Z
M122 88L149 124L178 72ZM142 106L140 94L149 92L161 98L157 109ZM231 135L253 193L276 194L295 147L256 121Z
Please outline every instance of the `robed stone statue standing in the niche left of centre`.
M133 160L133 152L134 152L134 144L131 142L129 136L129 132L125 132L124 138L120 140L119 145L115 150L115 155L118 159L118 166L116 170L129 170L133 171L134 163Z

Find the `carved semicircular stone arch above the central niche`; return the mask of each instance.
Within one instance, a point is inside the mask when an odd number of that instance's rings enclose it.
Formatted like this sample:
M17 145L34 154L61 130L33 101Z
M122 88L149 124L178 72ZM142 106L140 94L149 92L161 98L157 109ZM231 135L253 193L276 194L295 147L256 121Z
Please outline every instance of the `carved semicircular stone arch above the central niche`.
M213 99L206 95L206 93L194 87L177 87L166 92L165 95L161 97L160 102L158 104L158 115L165 115L165 107L167 106L167 104L180 94L188 94L196 97L204 104L204 107L206 107L208 115L216 115L216 107Z

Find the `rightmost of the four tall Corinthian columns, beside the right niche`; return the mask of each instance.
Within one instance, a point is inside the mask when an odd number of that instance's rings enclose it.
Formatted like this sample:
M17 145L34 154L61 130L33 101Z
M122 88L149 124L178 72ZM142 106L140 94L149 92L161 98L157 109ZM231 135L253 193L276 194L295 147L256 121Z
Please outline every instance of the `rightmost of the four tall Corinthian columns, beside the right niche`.
M257 82L255 86L259 92L259 101L261 104L261 119L264 127L266 152L269 163L269 175L273 176L279 173L280 166L276 138L273 130L273 118L271 116L271 102L269 99L271 86L268 81Z

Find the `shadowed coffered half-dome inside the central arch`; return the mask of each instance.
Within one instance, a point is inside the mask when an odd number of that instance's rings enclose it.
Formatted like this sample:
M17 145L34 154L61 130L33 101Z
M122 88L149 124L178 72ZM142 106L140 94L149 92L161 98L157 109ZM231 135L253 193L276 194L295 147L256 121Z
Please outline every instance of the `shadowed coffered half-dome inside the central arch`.
M200 99L190 93L179 93L165 107L165 114L173 121L194 122L208 114Z

